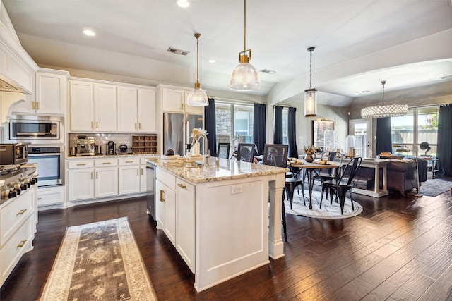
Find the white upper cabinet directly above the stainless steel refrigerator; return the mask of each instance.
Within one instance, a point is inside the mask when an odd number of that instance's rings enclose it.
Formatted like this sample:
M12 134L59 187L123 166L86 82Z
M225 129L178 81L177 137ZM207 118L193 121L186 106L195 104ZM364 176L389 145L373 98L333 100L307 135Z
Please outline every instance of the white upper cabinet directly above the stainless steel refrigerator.
M161 87L162 109L168 112L203 114L203 106L189 106L186 98L191 90L178 87Z

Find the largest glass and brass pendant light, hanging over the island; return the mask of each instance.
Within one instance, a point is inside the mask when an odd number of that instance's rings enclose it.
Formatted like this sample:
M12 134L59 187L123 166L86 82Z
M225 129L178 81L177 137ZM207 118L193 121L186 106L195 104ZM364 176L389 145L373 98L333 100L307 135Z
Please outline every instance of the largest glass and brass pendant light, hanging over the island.
M246 53L249 52L249 56ZM259 75L251 63L251 49L246 49L246 0L244 0L244 51L239 52L239 65L232 71L229 87L236 91L251 91L261 87Z

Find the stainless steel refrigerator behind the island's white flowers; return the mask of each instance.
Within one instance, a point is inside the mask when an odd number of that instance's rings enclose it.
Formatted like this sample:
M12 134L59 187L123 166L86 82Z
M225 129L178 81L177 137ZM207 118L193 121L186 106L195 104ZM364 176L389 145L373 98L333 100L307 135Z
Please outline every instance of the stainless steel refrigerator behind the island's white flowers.
M163 154L174 149L174 154L184 156L194 128L204 128L202 115L163 113Z

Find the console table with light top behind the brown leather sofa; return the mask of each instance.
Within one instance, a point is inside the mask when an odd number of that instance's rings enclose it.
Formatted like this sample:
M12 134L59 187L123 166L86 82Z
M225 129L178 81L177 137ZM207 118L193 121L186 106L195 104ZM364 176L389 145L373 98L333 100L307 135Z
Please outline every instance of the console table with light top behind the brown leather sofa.
M343 159L343 165L347 165L350 159ZM388 159L376 159L376 158L366 158L362 159L360 167L374 168L374 190L364 190L359 188L353 188L353 193L358 193L359 195L369 195L369 197L384 197L388 195L388 187L386 183L386 164L388 164ZM380 177L379 170L383 169L382 177L382 188L380 189Z

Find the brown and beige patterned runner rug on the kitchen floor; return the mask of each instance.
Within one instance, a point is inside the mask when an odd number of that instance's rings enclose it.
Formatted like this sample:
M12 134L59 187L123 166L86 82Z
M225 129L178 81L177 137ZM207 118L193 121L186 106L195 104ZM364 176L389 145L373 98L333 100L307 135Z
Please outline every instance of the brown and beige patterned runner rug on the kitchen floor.
M41 300L157 300L127 218L66 228Z

